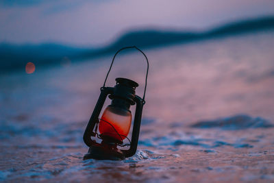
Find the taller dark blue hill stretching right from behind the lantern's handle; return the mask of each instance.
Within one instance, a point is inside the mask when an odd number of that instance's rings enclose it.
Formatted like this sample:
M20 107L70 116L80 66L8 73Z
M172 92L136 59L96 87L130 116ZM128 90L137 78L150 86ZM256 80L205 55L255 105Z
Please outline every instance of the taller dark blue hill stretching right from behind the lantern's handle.
M136 47L155 47L176 43L191 42L201 39L216 38L220 36L233 36L246 34L248 32L260 32L265 29L274 28L274 16L261 19L250 19L229 23L221 27L210 29L206 32L174 32L143 30L129 32L105 48L105 52L115 51L120 47L136 45Z

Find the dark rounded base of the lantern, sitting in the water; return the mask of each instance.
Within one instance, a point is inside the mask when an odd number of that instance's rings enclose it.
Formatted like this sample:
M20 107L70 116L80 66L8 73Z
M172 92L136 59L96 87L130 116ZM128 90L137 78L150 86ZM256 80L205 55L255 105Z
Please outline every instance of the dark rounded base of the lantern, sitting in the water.
M116 145L93 145L85 154L84 160L124 160L123 152L117 149Z

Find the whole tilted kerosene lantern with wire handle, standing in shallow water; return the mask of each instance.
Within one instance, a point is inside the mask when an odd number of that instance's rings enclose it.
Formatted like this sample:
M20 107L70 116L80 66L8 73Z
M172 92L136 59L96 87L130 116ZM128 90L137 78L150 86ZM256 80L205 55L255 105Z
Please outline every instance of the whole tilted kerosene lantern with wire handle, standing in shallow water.
M135 46L124 47L115 53L108 74L112 69L112 64L117 53L123 49L132 48L137 49L145 56L145 53ZM147 60L147 56L145 56L145 58ZM148 71L149 62L147 60L147 74ZM105 77L105 82L108 79L108 74ZM84 156L84 160L90 158L97 160L123 160L136 153L142 118L142 107L145 104L147 74L145 79L145 91L142 98L136 95L135 89L138 84L132 80L118 77L116 78L116 85L114 87L105 87L105 82L103 83L101 94L83 136L84 143L89 147L88 154ZM99 118L107 97L112 100L111 104L105 108L101 118ZM132 112L129 108L133 105L136 105L136 112L132 129L132 138L129 140L127 135L129 134L132 124ZM101 139L101 143L98 143L95 138L97 138L97 140ZM129 141L129 143L124 143L124 140ZM129 146L129 148L121 148L125 146Z

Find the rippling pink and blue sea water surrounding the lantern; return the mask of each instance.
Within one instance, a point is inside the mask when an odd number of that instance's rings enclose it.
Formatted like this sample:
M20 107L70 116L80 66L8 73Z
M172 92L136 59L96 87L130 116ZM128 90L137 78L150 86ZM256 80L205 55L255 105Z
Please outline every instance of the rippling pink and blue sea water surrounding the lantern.
M122 161L82 159L110 56L1 75L0 181L273 182L273 48L261 32L144 50L138 151ZM122 53L107 85L127 77L142 96L145 69Z

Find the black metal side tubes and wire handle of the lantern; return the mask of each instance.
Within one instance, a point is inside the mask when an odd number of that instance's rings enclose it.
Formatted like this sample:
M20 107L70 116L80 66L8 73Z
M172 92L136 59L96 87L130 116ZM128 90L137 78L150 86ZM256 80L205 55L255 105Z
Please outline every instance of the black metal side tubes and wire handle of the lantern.
M141 119L142 119L142 108L145 105L145 93L146 93L146 90L147 90L147 75L149 73L149 61L147 59L147 56L145 55L144 52L142 52L136 46L123 47L122 49L119 49L119 51L117 51L115 53L115 55L112 59L112 63L110 64L110 69L108 70L108 73L105 77L105 81L103 83L103 86L101 87L101 94L100 94L99 99L96 103L95 109L92 112L90 120L88 121L88 125L86 126L86 130L84 132L83 139L84 139L84 143L86 143L86 145L88 147L92 147L93 145L99 145L99 143L97 143L95 140L92 140L91 137L92 136L99 137L99 135L97 134L97 127L98 127L99 120L100 120L99 119L99 114L100 114L100 112L103 108L103 104L105 103L105 99L108 97L108 95L110 95L110 96L114 95L114 92L115 92L114 91L115 87L106 87L105 82L108 79L108 75L110 73L110 70L112 69L112 64L114 62L114 59L116 58L116 55L124 49L137 49L138 51L140 51L142 53L143 56L145 56L145 58L147 60L147 73L146 73L146 77L145 77L144 95L143 95L142 98L139 97L138 95L133 96L133 101L134 101L134 103L136 103L136 112L135 112L135 116L134 116L134 125L133 125L133 130L132 130L132 138L131 138L131 141L129 141L130 147L129 147L129 149L120 149L123 152L123 156L125 156L125 158L127 158L127 157L130 157L130 156L133 156L136 153L136 150L137 150L138 138L139 138L139 133L140 133L140 124L141 124ZM128 79L125 79L125 80L128 80ZM117 134L118 134L118 132L117 132ZM120 146L127 146L127 145L120 145Z

